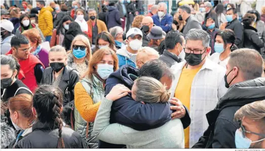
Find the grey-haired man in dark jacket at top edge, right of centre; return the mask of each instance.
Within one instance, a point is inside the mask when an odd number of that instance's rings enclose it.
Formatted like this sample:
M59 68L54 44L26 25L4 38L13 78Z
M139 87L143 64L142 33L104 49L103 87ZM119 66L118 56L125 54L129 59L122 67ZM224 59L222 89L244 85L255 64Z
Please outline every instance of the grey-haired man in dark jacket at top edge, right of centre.
M215 28L219 28L217 14L214 11L212 11L212 4L210 2L205 2L204 3L204 6L205 6L206 14L205 14L205 17L204 17L203 29L204 30L207 30L208 29L209 25L206 24L206 23L207 23L207 20L209 18L211 18L212 20L214 20Z

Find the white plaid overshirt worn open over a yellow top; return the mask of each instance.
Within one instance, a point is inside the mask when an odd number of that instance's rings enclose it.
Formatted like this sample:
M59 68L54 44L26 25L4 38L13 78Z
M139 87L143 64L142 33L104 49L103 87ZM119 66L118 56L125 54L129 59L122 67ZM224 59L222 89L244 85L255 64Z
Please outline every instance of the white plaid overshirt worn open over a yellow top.
M186 61L184 60L171 67L175 75L175 80L171 87L171 98L174 97L178 80L185 64ZM214 109L218 99L227 91L224 86L224 75L225 69L222 66L206 58L204 65L194 77L190 104L190 117L192 120L190 125L190 147L198 142L209 126L206 114Z

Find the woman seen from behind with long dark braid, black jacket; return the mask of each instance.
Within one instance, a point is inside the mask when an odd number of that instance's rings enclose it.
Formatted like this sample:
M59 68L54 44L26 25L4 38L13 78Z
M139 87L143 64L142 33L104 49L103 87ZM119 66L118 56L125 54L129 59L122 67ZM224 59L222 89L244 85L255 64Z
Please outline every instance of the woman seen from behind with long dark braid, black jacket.
M32 108L37 122L15 148L87 148L77 132L64 127L62 107L63 92L58 87L43 85L37 89Z

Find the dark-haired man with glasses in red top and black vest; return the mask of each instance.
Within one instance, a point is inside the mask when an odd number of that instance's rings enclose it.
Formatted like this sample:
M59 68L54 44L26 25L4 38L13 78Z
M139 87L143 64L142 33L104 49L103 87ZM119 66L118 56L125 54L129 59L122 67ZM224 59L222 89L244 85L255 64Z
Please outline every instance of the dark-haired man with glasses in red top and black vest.
M31 92L35 92L41 82L44 72L42 62L30 53L32 49L24 35L15 35L11 39L11 50L7 54L14 55L20 64L18 79L21 80Z

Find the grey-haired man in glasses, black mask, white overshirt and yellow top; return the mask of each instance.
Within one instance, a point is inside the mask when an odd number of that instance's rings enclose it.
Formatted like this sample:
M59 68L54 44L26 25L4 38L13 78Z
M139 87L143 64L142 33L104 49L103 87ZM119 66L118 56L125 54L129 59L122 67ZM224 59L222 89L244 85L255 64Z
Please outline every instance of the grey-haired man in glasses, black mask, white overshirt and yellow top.
M202 29L191 29L185 36L184 61L174 66L175 80L171 98L178 98L191 111L192 123L184 130L185 148L193 146L208 122L205 114L212 110L226 92L225 69L207 56L211 52L210 36Z

